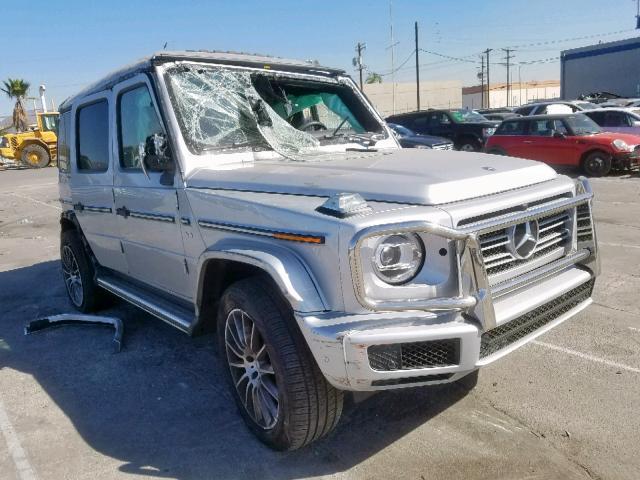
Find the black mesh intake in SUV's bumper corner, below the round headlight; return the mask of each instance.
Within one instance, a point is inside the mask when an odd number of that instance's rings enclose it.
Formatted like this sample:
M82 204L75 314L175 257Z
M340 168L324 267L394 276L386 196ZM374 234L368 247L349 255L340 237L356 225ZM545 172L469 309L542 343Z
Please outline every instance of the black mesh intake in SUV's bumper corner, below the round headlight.
M372 345L367 349L373 370L393 371L457 365L460 339Z

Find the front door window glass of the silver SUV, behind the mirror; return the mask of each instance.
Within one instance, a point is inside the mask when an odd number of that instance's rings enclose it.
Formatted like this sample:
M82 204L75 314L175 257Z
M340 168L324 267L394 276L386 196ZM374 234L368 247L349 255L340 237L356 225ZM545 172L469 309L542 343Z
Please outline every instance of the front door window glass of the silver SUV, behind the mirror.
M122 168L139 169L140 151L154 134L163 134L162 126L146 85L140 85L118 97L118 140Z

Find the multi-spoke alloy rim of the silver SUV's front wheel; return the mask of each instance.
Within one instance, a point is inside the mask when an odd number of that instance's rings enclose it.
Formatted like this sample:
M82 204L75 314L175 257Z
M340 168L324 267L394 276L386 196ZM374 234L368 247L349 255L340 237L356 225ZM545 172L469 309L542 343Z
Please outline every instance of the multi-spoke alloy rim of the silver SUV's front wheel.
M246 412L261 428L273 428L280 415L276 375L262 335L243 310L227 315L224 342L231 378Z

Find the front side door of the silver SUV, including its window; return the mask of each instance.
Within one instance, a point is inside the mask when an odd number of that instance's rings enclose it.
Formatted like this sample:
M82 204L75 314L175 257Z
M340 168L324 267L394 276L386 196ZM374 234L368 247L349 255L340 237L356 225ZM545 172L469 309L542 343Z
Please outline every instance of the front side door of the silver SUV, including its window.
M138 75L119 84L114 98L115 208L129 275L189 299L178 217L178 169L167 178L166 172L149 171L142 164L150 139L166 136L153 89L146 75Z

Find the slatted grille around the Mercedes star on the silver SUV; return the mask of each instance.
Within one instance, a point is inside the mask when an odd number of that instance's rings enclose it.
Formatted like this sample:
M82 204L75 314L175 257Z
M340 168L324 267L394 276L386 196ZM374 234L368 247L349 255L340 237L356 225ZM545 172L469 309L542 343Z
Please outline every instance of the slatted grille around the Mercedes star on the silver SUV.
M480 235L480 249L487 275L496 275L545 255L563 251L571 240L570 224L572 210L566 210L538 218L538 244L533 255L526 259L514 257L507 244L509 238L504 228Z

